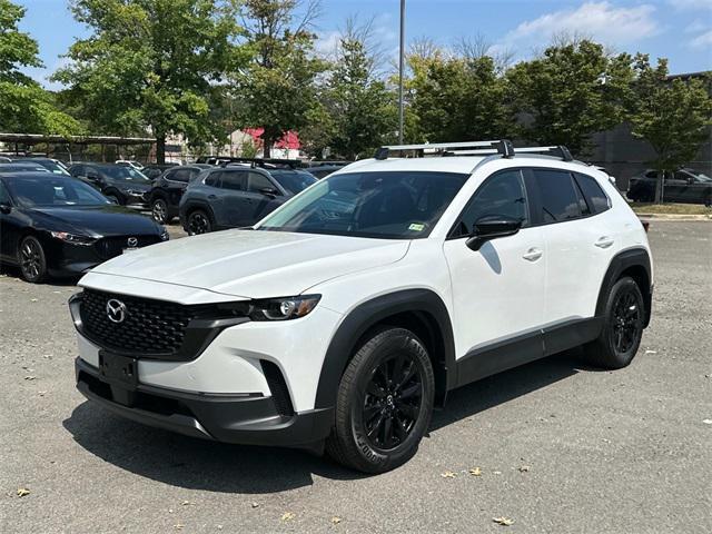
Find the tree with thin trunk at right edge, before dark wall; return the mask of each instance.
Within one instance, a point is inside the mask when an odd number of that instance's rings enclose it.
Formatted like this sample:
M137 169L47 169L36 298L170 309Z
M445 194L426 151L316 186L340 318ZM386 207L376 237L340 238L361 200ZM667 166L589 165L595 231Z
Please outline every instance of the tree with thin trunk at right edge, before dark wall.
M630 121L633 136L655 150L655 202L663 201L663 176L694 158L709 139L712 125L710 78L682 80L668 77L668 60L652 67L647 55L637 55Z

